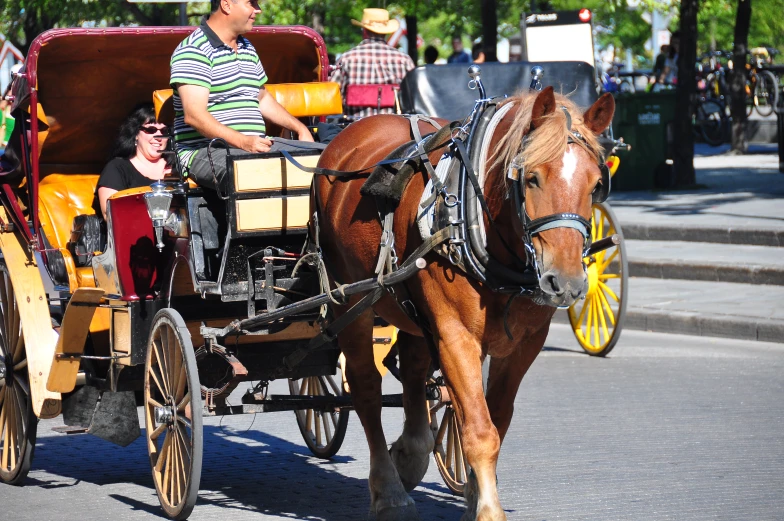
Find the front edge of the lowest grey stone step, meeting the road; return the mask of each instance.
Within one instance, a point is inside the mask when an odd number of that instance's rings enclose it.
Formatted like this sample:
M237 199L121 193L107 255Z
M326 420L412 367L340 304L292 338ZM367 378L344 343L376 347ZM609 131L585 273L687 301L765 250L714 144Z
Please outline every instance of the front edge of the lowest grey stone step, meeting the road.
M556 313L553 322L569 324L569 317L566 313ZM627 308L623 327L655 333L784 342L784 320L706 315L691 311Z

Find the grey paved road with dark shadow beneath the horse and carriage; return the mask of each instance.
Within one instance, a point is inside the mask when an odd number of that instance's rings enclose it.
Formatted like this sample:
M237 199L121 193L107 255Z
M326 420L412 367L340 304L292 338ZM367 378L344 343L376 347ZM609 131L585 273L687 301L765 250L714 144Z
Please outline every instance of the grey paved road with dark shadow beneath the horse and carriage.
M499 464L510 520L784 520L784 344L629 330L595 359L554 326L547 346ZM389 439L399 423L385 411ZM53 425L39 427L27 486L0 487L0 519L159 518L141 439L121 449ZM291 413L205 426L192 520L365 519L355 416L331 462L309 456ZM460 518L433 465L413 496L423 521Z

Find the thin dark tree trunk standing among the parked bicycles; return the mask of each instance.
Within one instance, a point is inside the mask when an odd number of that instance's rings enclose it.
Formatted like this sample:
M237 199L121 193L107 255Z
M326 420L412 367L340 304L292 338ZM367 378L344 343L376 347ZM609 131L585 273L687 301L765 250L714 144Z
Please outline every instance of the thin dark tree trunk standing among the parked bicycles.
M732 115L732 152L745 154L746 139L746 51L751 25L751 0L739 0L735 16L735 46L730 74L730 114Z

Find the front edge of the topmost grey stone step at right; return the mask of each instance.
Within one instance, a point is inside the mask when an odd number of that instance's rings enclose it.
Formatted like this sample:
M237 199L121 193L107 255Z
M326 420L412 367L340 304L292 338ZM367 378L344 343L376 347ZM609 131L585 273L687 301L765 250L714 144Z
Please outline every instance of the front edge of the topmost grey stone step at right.
M626 239L784 246L784 230L623 223Z

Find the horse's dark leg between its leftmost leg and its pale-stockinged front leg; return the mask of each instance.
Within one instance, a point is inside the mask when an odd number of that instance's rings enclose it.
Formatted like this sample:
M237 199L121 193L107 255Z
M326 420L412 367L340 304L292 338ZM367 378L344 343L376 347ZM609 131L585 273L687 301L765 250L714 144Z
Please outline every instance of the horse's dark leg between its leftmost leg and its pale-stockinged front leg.
M395 462L406 490L413 490L427 472L433 452L433 431L427 410L425 383L430 368L430 352L424 338L400 331L397 337L400 355L400 380L403 383L403 407L406 421L403 433L389 453Z

